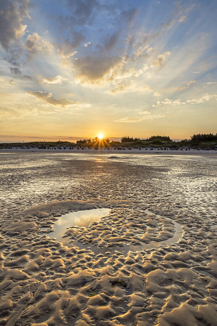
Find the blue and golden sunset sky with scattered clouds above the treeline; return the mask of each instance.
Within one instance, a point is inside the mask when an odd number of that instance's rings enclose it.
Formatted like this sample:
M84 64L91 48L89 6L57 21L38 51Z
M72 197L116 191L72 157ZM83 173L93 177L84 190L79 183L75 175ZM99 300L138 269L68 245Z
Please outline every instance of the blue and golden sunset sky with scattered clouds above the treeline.
M0 141L217 132L217 1L1 0Z

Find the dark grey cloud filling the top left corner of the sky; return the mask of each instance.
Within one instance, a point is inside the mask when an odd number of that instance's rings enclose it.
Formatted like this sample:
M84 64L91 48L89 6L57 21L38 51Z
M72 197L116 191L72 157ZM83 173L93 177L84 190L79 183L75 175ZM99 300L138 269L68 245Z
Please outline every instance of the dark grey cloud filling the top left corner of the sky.
M28 7L29 0L0 1L0 43L6 51L24 35L27 25L23 19L29 17Z

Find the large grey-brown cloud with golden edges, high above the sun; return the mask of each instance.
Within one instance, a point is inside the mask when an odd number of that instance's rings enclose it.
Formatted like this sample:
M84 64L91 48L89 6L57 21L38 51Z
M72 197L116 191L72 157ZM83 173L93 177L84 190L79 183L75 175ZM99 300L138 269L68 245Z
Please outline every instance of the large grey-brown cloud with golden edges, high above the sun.
M81 83L100 83L105 75L112 74L118 65L123 65L122 58L119 56L80 57L74 61L75 77ZM114 77L110 76L110 79Z

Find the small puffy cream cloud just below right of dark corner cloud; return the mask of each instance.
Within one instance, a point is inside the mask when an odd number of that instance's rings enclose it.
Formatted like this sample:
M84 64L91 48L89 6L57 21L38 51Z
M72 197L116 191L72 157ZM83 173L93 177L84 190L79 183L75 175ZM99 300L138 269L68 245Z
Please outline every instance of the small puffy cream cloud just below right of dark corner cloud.
M53 45L50 44L50 42L45 41L37 33L33 33L32 35L28 35L26 38L25 48L28 52L27 57L32 58L32 56L37 55L38 53L48 55L52 51Z

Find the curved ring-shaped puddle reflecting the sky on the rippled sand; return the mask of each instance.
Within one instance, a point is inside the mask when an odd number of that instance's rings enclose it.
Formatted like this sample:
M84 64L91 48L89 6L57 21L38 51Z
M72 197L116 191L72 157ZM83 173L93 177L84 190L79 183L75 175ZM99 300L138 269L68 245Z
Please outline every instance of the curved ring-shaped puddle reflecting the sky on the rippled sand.
M157 214L154 214L154 216L167 219L174 224L175 233L172 238L160 242L156 242L153 240L149 244L142 244L142 245L130 244L130 245L124 245L122 247L107 246L106 248L98 247L97 245L91 246L91 244L83 244L81 242L78 242L77 240L70 239L70 237L62 238L64 232L68 227L72 227L76 225L76 226L82 226L88 228L90 223L100 221L102 216L108 214L110 211L111 210L108 208L98 208L98 209L92 209L88 211L78 211L78 212L62 215L54 225L55 231L50 233L44 233L44 235L48 235L50 238L56 238L56 241L61 241L61 243L67 247L79 247L80 249L86 249L86 250L89 249L90 251L94 252L95 256L97 256L98 254L103 254L105 256L110 256L113 254L117 254L118 256L126 255L128 254L129 251L136 252L136 251L142 251L142 250L147 250L152 248L158 248L159 246L165 244L174 244L178 242L179 239L182 238L183 230L181 224L175 222L174 220L168 217L160 216ZM148 210L145 210L144 213L148 215L153 215Z

